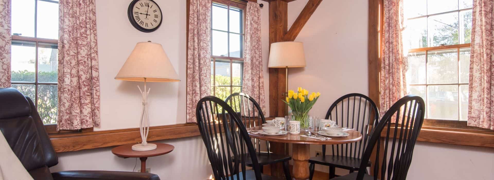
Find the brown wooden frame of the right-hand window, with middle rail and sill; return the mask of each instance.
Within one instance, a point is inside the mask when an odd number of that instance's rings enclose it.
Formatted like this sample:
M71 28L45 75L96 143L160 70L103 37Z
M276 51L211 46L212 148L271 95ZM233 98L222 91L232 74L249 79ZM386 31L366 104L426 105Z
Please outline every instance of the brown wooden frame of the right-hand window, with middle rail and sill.
M381 70L381 49L383 29L383 0L369 0L369 97L379 106L379 73ZM443 50L463 47L465 44L440 47L417 48L412 51ZM440 49L439 49L440 48ZM446 126L446 127L440 127ZM494 147L494 131L466 126L465 121L425 119L418 141Z

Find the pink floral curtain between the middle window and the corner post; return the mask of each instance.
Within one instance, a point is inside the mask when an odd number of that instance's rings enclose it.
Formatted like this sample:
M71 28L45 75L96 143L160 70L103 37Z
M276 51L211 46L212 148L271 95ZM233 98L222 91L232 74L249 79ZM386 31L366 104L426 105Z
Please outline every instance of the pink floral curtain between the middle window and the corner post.
M261 8L258 3L247 2L245 36L242 91L254 98L262 111L266 112L262 72Z

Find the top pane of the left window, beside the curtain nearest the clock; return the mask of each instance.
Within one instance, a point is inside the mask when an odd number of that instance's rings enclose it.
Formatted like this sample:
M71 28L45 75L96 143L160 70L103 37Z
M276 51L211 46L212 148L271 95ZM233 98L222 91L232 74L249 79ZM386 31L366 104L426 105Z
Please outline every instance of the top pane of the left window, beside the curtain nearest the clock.
M37 37L58 39L58 3L38 0Z

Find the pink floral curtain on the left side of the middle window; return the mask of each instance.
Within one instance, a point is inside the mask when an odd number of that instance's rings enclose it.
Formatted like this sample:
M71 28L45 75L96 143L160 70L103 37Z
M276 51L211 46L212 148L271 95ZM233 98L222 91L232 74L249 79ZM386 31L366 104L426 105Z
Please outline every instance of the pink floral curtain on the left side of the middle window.
M197 102L211 93L211 0L190 0L187 39L187 122L197 122Z

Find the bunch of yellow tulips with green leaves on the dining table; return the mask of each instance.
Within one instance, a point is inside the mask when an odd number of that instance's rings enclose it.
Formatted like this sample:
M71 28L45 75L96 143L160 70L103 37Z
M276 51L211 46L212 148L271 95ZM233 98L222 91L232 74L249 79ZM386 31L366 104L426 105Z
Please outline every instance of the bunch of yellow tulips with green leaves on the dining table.
M309 128L309 111L316 104L320 95L321 93L319 92L309 94L306 89L298 87L296 93L293 90L289 90L286 101L282 100L291 108L293 120L300 121L300 128Z

